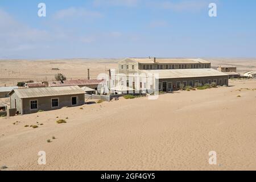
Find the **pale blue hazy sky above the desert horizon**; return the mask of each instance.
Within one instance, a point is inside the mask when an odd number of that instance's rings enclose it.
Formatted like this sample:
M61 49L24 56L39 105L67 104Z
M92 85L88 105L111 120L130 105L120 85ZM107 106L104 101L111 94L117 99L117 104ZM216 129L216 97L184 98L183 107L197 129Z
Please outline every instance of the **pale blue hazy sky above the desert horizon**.
M0 0L0 59L256 57L255 44L255 0Z

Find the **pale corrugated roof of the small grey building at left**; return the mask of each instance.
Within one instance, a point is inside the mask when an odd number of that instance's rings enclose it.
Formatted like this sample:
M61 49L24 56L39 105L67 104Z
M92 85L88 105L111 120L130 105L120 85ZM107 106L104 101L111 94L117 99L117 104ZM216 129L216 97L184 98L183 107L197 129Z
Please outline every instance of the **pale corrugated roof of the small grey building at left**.
M24 89L14 89L14 92L18 95L19 98L34 98L34 97L84 94L84 90L82 90L79 86L24 88Z

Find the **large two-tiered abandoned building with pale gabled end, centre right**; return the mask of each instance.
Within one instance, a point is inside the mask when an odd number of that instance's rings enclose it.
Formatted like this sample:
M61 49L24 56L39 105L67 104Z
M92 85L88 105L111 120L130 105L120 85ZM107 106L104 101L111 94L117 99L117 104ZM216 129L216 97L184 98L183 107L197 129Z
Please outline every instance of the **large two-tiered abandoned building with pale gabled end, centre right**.
M154 77L157 81L148 82ZM118 63L118 69L110 70L110 88L125 85L139 90L169 92L183 86L211 84L227 85L229 76L210 68L210 62L202 59L179 58L127 58Z

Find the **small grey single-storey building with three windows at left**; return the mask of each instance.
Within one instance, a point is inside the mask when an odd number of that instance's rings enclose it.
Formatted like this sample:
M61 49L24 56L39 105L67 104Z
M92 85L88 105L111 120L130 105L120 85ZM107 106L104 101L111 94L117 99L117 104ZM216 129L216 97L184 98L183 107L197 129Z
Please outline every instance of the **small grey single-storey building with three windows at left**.
M9 95L10 108L19 114L84 105L85 100L85 92L79 86L14 89Z

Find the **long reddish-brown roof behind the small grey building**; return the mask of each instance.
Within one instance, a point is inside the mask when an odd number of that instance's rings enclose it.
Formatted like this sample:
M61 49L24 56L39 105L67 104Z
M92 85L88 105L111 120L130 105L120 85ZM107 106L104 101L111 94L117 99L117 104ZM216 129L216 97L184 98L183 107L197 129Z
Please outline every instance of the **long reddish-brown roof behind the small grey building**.
M91 80L64 80L61 81L52 81L48 82L48 86L73 86L73 85L98 85L101 84L101 82L104 81L104 79L91 79Z

